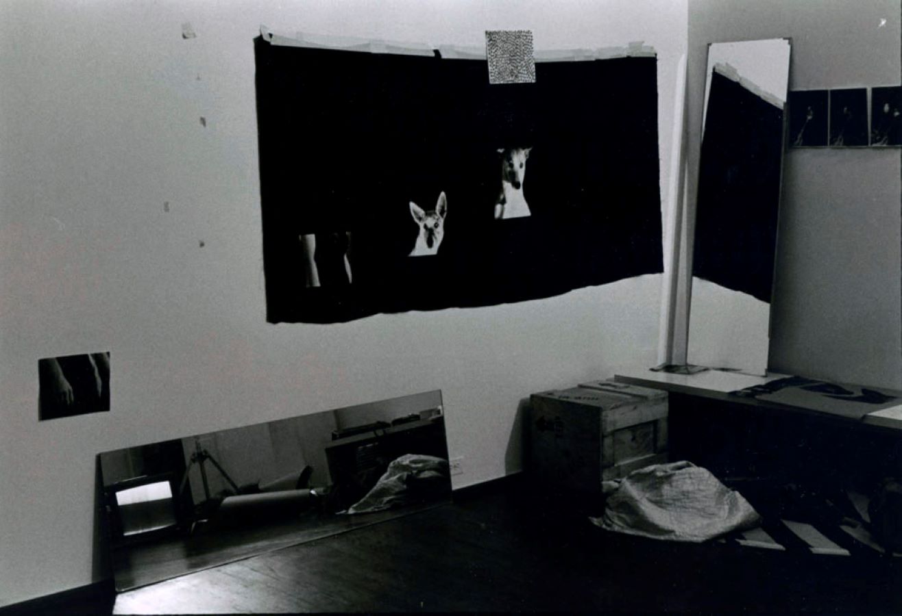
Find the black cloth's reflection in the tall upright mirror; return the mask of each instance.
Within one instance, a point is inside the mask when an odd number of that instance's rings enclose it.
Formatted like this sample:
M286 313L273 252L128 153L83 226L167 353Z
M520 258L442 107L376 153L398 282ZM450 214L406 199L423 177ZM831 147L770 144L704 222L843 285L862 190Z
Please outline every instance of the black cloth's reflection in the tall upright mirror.
M693 276L770 303L783 109L711 75L699 164Z

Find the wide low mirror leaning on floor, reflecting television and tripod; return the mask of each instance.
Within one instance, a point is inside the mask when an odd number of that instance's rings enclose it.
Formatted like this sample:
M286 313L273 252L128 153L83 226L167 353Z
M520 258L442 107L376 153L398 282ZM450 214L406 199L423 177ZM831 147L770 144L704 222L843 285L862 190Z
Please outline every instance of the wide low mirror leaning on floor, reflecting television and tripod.
M441 392L100 454L118 591L450 500Z

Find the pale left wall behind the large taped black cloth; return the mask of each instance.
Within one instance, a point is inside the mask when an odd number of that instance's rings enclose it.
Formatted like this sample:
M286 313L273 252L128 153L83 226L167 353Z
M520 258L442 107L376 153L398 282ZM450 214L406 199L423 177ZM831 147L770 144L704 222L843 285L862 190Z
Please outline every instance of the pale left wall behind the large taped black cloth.
M261 23L458 45L527 28L540 50L646 41L667 186L686 0L0 3L0 604L108 575L92 554L99 451L440 388L460 487L520 468L529 393L656 361L660 276L267 324ZM38 358L97 350L112 352L112 412L39 423Z

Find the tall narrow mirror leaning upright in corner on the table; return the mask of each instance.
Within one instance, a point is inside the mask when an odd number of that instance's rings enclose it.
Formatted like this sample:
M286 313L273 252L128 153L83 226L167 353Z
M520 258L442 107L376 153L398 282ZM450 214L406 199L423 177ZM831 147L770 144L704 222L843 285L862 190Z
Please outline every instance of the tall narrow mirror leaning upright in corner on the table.
M788 81L786 39L708 48L690 365L767 373Z

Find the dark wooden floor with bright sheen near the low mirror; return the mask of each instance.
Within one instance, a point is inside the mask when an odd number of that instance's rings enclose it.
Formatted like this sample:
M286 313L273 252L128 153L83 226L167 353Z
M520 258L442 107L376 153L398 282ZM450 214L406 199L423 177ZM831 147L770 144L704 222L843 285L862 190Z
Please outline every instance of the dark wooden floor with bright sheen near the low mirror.
M510 480L427 512L119 594L115 612L902 611L902 559L612 535L588 521L591 509ZM110 613L113 601L106 591L18 611Z

